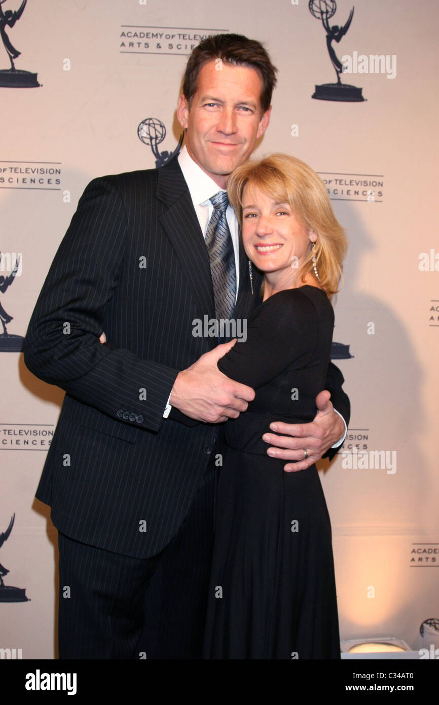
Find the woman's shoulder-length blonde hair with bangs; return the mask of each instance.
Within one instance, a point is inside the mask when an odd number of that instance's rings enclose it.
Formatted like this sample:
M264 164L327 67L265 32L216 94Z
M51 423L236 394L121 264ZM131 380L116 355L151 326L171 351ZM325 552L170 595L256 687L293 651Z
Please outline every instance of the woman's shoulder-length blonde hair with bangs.
M256 187L276 203L288 203L295 216L317 235L316 245L304 257L297 281L313 271L316 257L319 283L328 298L338 291L342 261L347 251L345 231L335 218L328 191L310 166L287 154L271 154L239 166L228 180L228 198L242 224L242 195L245 186Z

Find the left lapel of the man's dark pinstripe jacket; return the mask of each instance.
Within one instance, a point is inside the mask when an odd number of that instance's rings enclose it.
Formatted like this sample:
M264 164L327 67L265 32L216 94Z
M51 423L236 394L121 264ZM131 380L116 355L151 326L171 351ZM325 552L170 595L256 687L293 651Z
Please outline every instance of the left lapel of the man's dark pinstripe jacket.
M214 318L209 253L177 159L159 168L156 197L167 206L159 219L177 254L200 315Z

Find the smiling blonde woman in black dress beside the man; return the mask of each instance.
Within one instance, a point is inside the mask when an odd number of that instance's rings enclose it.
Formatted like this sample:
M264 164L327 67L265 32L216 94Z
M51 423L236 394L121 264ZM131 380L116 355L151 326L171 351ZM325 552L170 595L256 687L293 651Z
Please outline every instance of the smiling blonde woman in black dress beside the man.
M218 362L256 390L223 428L204 658L340 658L331 529L316 466L285 472L261 440L311 421L325 386L346 238L323 182L299 159L247 162L228 183L261 304Z

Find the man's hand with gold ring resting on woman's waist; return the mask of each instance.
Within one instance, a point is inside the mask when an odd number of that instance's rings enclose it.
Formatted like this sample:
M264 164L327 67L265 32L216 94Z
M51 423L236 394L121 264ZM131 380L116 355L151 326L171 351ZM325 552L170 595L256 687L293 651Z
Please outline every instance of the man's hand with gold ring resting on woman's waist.
M262 440L271 443L276 448L267 448L268 455L282 460L297 460L293 465L285 465L285 472L305 470L320 460L328 448L337 443L345 433L342 419L335 413L330 402L328 391L320 392L316 396L318 412L314 421L308 424L285 424L277 421L270 424L272 431L278 431L284 436L264 434ZM282 450L281 450L282 449ZM308 452L308 457L305 458Z

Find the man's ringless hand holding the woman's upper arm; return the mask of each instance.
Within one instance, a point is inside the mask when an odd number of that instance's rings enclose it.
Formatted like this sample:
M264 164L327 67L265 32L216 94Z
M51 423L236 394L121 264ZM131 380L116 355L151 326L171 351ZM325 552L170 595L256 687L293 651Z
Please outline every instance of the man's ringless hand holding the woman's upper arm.
M254 400L254 390L233 381L216 367L216 363L236 343L217 345L204 353L183 372L179 372L171 391L169 403L191 419L218 424L237 419Z

